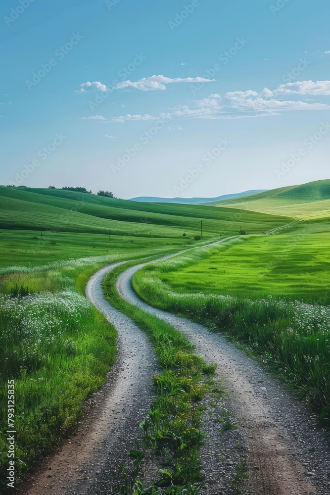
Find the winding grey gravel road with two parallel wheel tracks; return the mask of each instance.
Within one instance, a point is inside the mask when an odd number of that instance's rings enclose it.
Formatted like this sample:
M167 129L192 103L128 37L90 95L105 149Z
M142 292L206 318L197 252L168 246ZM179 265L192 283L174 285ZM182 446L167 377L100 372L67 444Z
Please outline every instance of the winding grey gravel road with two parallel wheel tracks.
M134 273L156 261L144 262L123 272L117 281L118 292L131 304L184 332L198 354L218 364L217 378L224 381L230 394L229 407L241 426L249 472L244 493L330 494L329 442L309 419L307 407L220 334L153 308L134 293ZM134 448L139 423L148 413L153 398L152 376L157 371L157 363L146 335L103 297L103 278L120 264L102 268L90 279L86 289L90 301L118 331L117 361L106 385L90 400L89 411L75 436L43 462L18 490L21 495L113 494L118 464L125 459L127 451ZM203 447L203 455L208 459L203 464L207 495L224 493L224 459L218 455L219 439L219 428L214 426Z

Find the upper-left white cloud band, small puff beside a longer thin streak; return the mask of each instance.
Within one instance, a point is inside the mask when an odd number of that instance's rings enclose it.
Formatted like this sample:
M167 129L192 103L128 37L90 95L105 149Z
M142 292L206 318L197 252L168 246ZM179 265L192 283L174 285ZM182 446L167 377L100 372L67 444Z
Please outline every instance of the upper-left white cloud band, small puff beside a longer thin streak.
M177 77L170 78L162 75L159 76L151 76L151 77L143 77L139 79L139 81L122 81L114 86L112 89L120 90L125 88L133 88L141 91L151 91L151 90L166 90L167 84L176 84L176 83L210 83L215 81L215 79L206 79L205 77ZM110 91L105 84L100 83L99 81L94 81L91 83L87 81L80 85L80 89L77 93L87 93L90 91Z

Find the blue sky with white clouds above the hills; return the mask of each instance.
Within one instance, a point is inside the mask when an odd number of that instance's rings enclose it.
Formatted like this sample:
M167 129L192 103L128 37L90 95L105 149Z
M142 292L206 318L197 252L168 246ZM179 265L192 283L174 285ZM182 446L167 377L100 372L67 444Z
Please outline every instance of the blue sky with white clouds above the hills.
M4 0L1 184L215 197L329 178L326 0Z

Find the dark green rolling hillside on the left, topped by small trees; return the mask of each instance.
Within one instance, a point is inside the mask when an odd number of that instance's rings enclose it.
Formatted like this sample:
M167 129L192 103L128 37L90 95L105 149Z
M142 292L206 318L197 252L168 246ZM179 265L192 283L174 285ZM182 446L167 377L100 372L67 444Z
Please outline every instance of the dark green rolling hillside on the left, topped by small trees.
M205 237L265 232L290 218L214 206L142 203L72 191L0 186L0 228L141 237ZM150 232L151 231L151 232Z

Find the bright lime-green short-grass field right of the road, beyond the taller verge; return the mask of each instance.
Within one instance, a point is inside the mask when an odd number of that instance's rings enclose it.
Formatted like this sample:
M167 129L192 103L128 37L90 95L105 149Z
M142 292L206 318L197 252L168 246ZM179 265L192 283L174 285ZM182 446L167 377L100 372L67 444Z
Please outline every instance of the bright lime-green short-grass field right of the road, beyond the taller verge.
M166 265L162 281L177 293L263 298L268 295L330 303L330 232L240 238L200 261ZM191 255L192 256L192 255Z

